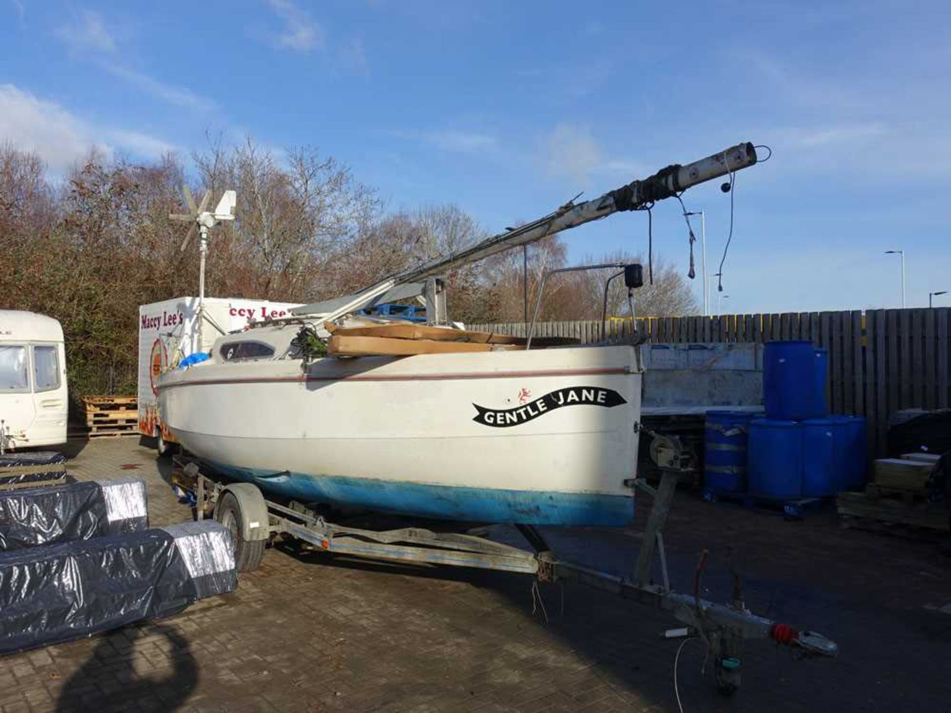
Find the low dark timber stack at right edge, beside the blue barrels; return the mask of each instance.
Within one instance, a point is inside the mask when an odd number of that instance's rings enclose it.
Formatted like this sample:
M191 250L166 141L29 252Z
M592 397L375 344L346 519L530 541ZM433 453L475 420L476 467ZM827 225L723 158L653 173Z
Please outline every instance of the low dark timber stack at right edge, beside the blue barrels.
M947 504L932 502L928 497L940 457L932 453L903 453L900 458L877 459L872 482L864 492L839 494L839 514L927 530L949 530Z

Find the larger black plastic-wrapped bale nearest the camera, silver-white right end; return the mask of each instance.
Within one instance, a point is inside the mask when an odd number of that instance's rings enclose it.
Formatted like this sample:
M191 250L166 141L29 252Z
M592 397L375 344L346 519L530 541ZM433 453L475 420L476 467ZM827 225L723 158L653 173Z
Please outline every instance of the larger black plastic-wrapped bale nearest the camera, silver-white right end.
M214 520L0 552L0 654L175 614L238 585Z

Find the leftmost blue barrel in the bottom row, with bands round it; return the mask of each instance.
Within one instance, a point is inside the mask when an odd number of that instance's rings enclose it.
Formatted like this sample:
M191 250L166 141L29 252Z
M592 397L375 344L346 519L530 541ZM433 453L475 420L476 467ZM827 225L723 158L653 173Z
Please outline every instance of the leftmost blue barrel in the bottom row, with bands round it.
M720 494L747 491L747 427L753 414L708 411L704 428L704 487Z

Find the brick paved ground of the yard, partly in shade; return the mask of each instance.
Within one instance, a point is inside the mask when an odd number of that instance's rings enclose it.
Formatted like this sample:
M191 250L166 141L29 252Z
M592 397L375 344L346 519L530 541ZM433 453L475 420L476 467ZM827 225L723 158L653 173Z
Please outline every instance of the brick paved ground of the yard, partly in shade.
M81 449L81 450L80 450ZM81 478L148 482L153 525L189 511L154 454L134 440L72 444ZM646 500L646 499L645 499ZM647 505L642 503L643 511ZM496 529L500 539L514 538ZM630 568L624 532L549 532L555 549ZM732 699L700 678L703 650L681 657L686 711L948 710L948 562L934 544L701 503L679 492L667 532L671 577L691 587L713 553L705 595L724 599L728 548L751 607L835 638L835 662L794 662L748 646ZM238 591L170 619L0 660L0 709L12 711L676 711L674 622L584 588L542 588L532 614L523 575L378 565L291 548L268 550ZM563 613L562 609L563 600Z

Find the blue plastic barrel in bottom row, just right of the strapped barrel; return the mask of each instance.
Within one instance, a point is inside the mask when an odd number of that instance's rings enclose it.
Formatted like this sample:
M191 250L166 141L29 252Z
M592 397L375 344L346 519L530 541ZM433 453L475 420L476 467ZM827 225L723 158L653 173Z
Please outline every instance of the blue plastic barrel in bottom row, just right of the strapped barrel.
M798 421L749 422L747 480L754 495L782 500L803 494L803 428Z

